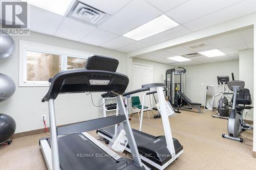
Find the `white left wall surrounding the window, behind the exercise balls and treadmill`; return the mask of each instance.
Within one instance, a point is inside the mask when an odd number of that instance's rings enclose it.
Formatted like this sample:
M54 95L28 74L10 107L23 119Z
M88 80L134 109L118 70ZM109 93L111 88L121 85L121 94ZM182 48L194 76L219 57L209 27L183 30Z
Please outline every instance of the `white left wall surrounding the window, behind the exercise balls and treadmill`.
M13 56L1 60L0 72L14 80L16 91L11 99L0 103L0 113L9 114L15 119L17 124L16 133L44 128L41 121L42 114L46 114L48 120L47 102L41 103L41 99L47 93L48 87L18 87L19 40L115 57L119 60L118 71L123 74L126 71L125 55L123 53L33 32L31 32L30 36L13 36L12 38L15 41L16 50ZM93 100L97 105L102 103L99 94L94 93ZM102 107L94 107L90 96L86 94L59 95L55 105L57 125L80 122L102 116ZM49 123L49 121L47 122Z

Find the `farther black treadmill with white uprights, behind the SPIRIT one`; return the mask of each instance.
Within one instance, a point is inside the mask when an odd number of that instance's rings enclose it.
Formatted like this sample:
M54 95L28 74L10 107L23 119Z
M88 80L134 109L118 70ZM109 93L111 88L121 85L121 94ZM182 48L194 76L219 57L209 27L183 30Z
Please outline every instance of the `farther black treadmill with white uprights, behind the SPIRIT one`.
M126 95L135 94L142 91L148 91L150 89L156 90L157 92L159 106L161 108L160 112L162 116L162 123L163 123L165 135L153 136L145 132L141 132L136 129L133 129L133 135L137 143L138 151L139 151L142 162L150 167L157 168L157 169L166 168L170 163L172 163L175 159L177 159L183 153L183 146L180 144L180 142L176 138L173 138L172 131L170 129L167 109L165 105L166 101L164 99L164 93L163 93L165 88L166 88L165 84L153 83L153 84L142 85L141 89L123 94L123 96L126 96ZM148 94L151 94L151 93L152 92L148 92ZM101 96L105 98L104 94L102 94ZM140 123L142 123L142 116L140 117L141 117ZM111 126L108 128L98 129L96 133L102 136L103 138L111 141L113 136L115 135L115 129L116 129L115 126ZM131 147L132 145L130 145L129 143L127 144L127 147L125 150L127 152L132 153Z

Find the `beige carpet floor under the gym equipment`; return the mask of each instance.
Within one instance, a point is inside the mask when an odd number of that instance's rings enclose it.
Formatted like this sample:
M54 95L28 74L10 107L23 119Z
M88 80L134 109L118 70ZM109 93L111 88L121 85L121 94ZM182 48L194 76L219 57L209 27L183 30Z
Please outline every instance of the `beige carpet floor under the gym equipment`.
M155 112L156 113L156 112ZM166 169L256 169L256 159L252 158L252 141L244 138L242 144L237 141L222 138L227 133L227 120L212 118L211 111L198 114L194 111L184 111L170 117L172 133L184 147L184 153ZM161 119L147 119L144 112L144 132L152 135L163 135ZM131 125L138 129L136 114L132 116ZM98 138L95 131L90 132ZM252 139L252 131L242 133ZM0 147L0 169L47 169L42 156L38 139L46 137L38 134L13 139L11 145Z

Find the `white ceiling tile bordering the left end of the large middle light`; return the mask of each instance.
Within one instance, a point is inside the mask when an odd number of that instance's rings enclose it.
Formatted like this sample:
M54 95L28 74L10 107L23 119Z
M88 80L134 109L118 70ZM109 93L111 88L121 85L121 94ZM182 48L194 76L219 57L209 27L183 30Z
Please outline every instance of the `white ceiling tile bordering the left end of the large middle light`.
M104 47L104 48L109 48L111 50L116 50L118 48L121 48L123 46L129 45L136 42L135 40L132 40L130 38L126 38L123 36L119 36L111 41L108 41L100 46Z

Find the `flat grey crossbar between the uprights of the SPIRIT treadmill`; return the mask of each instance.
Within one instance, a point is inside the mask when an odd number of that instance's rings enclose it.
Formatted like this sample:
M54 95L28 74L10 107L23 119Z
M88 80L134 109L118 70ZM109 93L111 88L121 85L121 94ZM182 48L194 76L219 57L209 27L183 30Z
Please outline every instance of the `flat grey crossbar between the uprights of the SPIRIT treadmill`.
M75 133L88 132L108 126L122 123L126 120L125 115L101 117L87 120L80 123L74 123L57 128L57 135L70 135Z

